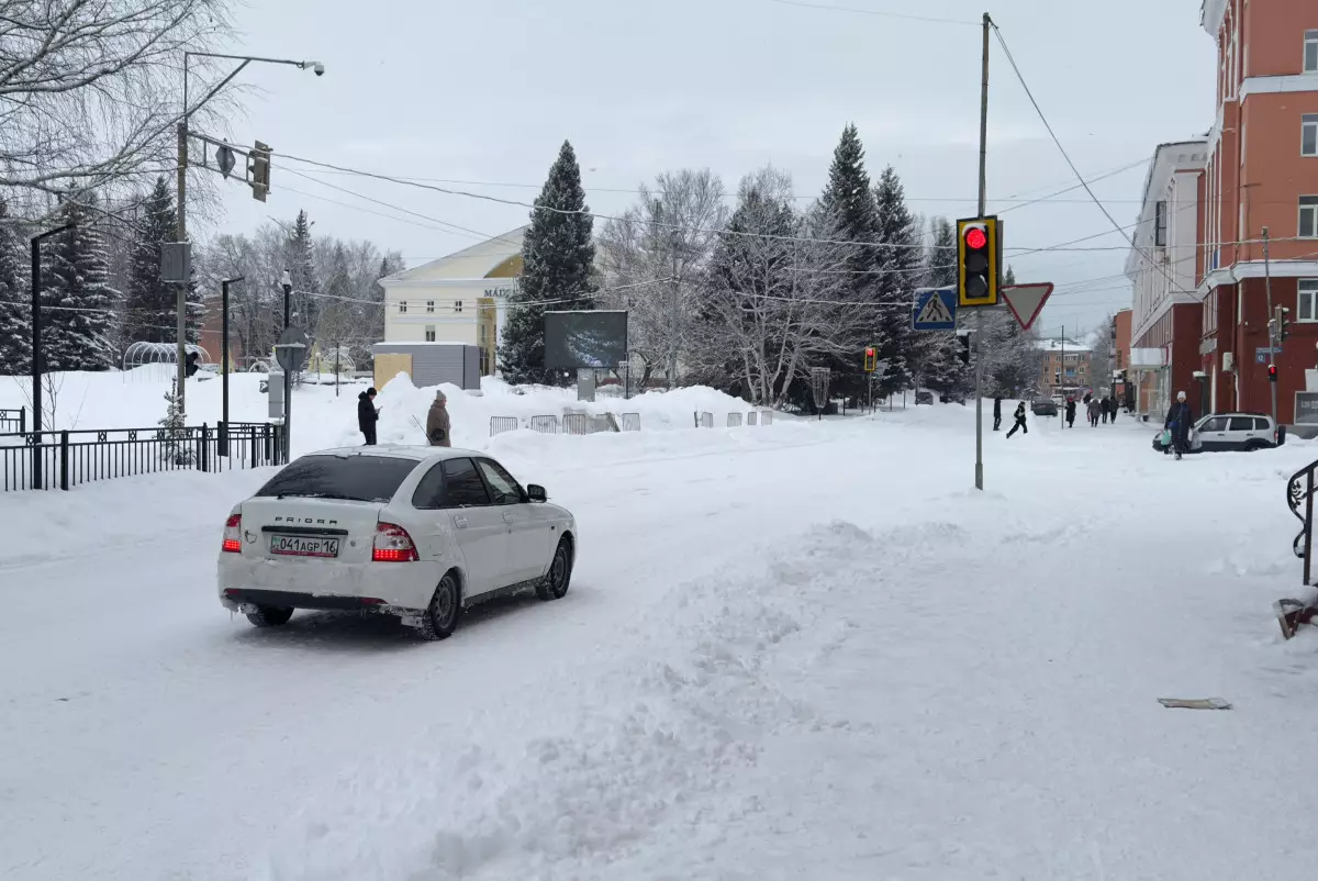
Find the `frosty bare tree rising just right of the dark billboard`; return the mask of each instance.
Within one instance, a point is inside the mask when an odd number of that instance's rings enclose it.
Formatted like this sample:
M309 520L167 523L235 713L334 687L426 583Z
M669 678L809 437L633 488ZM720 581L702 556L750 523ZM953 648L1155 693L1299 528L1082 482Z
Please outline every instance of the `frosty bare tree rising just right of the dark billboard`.
M638 203L600 233L609 307L629 313L630 349L645 385L663 369L672 388L691 344L692 313L728 222L722 181L709 169L681 169L639 189Z

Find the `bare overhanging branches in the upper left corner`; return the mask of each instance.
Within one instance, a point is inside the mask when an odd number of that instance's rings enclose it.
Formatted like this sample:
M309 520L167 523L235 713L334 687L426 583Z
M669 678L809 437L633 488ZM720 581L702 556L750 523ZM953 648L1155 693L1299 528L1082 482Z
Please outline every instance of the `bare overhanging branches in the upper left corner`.
M0 187L76 198L173 167L185 49L228 0L0 0Z

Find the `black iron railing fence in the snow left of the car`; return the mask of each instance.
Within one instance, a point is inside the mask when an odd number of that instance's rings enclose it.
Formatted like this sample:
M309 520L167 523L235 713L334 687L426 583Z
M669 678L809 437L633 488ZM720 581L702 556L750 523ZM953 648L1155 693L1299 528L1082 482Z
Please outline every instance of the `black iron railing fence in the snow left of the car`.
M71 489L163 471L279 466L282 426L253 422L181 429L86 429L0 434L0 489Z

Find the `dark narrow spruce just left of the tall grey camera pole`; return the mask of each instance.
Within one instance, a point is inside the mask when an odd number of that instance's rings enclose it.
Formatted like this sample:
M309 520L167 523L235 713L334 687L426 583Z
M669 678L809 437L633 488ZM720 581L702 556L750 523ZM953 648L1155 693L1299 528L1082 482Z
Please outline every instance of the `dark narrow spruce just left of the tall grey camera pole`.
M163 177L146 197L133 240L132 269L124 302L124 339L173 343L178 322L178 286L161 281L161 244L178 239L174 197Z

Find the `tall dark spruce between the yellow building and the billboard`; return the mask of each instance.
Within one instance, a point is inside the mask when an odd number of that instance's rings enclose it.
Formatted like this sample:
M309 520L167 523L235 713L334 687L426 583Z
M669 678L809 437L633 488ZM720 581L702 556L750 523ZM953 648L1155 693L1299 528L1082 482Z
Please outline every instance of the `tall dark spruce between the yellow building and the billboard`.
M509 303L500 368L513 384L556 384L544 367L544 310L593 309L593 219L572 144L563 141L522 239L522 276Z

